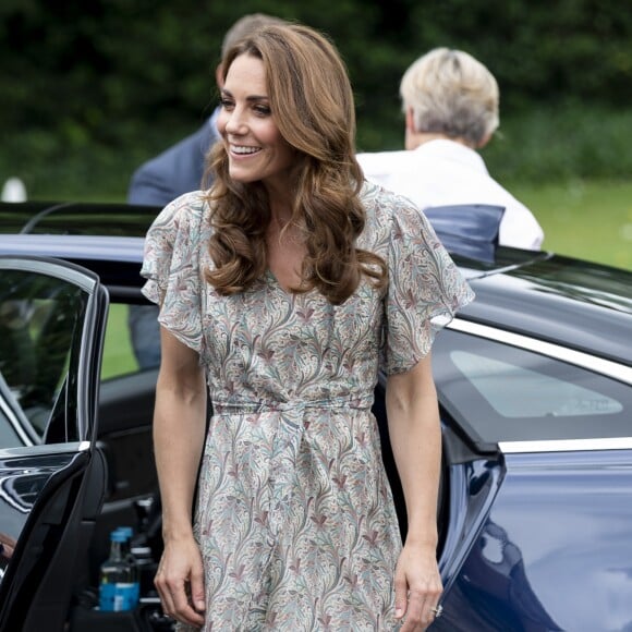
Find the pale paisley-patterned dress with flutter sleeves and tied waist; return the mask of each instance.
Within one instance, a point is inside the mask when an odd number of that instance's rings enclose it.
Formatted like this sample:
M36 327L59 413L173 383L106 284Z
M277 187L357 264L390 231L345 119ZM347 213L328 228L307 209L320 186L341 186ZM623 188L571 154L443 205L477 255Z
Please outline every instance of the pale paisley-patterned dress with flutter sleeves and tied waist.
M199 192L149 230L145 294L199 354L212 417L195 534L207 631L393 630L401 549L370 412L378 370L412 368L473 293L409 200L365 184L358 246L384 257L389 287L363 281L342 305L289 294L267 272L221 296ZM183 628L181 628L183 629Z

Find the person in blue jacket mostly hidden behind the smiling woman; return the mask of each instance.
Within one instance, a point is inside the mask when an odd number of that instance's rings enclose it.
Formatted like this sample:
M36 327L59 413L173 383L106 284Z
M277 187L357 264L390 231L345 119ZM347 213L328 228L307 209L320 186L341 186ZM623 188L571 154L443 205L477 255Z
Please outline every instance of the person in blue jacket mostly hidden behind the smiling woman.
M268 24L284 24L281 17L266 13L248 13L240 17L226 33L221 54L243 37L256 33ZM222 85L221 66L216 70L219 88ZM216 121L217 107L202 127L190 136L165 149L158 156L141 165L132 174L127 190L127 202L163 207L172 199L210 185L204 179L204 161L210 147L219 139ZM131 305L129 327L134 354L141 368L160 364L160 333L154 305Z

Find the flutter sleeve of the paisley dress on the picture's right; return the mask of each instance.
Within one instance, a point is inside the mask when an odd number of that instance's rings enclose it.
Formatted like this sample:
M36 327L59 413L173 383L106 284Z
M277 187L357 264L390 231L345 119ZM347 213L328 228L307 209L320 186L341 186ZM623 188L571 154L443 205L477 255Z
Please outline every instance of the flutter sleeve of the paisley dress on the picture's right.
M387 374L415 366L430 351L436 333L474 299L424 214L404 197L393 199L385 297Z

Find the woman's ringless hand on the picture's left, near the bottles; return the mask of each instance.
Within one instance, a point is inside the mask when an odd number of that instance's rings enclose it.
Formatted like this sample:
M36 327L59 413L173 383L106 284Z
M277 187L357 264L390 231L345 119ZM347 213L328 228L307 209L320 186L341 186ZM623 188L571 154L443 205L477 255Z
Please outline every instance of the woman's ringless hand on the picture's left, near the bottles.
M165 615L189 625L204 625L204 569L193 537L166 543L154 584Z

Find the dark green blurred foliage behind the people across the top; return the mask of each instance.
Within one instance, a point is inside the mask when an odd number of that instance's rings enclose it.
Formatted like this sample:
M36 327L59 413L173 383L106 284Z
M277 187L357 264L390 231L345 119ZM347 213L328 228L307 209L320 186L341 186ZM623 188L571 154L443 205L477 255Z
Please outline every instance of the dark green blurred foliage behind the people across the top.
M133 169L216 102L226 29L263 11L326 32L349 68L360 150L401 148L399 81L436 46L497 76L500 179L627 178L632 12L615 0L3 0L0 180L29 195L122 199Z

